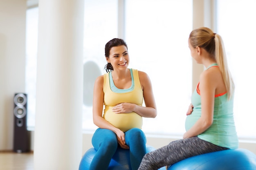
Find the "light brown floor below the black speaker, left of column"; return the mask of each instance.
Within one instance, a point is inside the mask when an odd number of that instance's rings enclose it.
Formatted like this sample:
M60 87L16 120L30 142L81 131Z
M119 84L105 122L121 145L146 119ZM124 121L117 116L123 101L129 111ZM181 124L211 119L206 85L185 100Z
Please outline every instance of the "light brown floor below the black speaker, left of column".
M0 152L0 170L33 170L33 153Z

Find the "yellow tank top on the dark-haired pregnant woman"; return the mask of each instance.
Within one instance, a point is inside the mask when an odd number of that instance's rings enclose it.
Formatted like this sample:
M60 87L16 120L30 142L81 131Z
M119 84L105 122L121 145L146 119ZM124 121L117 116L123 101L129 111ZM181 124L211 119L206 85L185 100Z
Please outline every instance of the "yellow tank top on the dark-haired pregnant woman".
M120 103L134 103L142 106L143 91L139 82L138 71L132 69L134 79L134 89L126 93L115 93L110 89L109 73L104 74L104 114L103 118L110 124L119 128L123 132L131 128L142 128L142 117L135 112L131 113L113 113L112 108Z

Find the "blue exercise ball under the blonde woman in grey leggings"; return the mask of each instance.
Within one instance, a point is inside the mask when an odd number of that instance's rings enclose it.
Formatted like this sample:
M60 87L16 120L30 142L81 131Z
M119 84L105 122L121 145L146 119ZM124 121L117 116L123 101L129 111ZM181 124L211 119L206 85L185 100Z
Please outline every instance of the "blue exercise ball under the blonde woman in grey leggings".
M197 155L168 170L256 170L256 155L246 149L229 149Z

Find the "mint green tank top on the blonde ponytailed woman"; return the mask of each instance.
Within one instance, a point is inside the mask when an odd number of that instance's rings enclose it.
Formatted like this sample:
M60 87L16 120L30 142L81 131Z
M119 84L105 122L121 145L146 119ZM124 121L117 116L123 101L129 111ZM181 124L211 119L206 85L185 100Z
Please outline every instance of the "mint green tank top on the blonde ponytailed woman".
M212 66L217 66L217 64L212 64L207 69ZM200 93L198 94L198 88L193 92L191 102L194 108L192 114L186 117L186 131L201 117L201 97ZM233 115L233 102L234 98L227 100L227 93L215 96L213 124L198 135L200 139L230 149L238 148L238 137Z

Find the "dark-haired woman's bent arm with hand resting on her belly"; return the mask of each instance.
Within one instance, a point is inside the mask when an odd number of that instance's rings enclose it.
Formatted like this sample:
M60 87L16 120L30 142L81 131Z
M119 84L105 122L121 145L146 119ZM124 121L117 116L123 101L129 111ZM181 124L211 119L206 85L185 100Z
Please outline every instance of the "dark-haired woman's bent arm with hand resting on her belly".
M155 104L155 98L153 95L153 89L150 78L142 71L139 71L139 81L143 90L143 97L146 107L138 106L132 103L121 103L112 108L115 113L131 113L135 112L141 117L156 117L157 109Z

